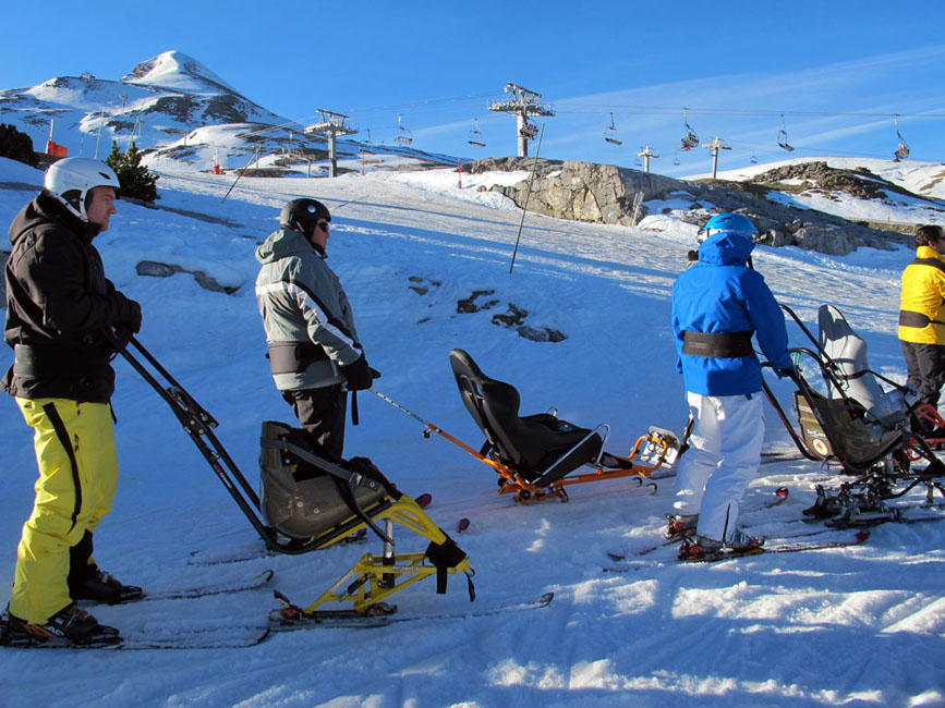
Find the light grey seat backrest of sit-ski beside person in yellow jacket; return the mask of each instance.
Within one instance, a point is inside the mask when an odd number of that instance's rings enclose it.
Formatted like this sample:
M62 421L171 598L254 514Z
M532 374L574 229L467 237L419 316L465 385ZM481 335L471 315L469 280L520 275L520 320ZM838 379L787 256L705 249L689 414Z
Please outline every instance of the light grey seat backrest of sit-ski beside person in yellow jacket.
M843 390L828 386L831 398L850 398L867 410L867 415L885 425L904 423L906 412L898 390L883 391L870 370L867 359L867 342L847 322L840 310L833 305L821 305L817 310L820 343L829 359L840 371Z

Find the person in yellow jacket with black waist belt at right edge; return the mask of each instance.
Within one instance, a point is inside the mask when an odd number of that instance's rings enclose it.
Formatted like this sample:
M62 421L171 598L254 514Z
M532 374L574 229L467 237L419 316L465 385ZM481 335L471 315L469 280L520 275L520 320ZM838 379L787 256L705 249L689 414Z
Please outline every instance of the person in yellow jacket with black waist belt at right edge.
M937 410L945 383L945 237L942 227L916 231L916 259L902 271L899 301L899 340L909 370L908 383L919 392L919 402ZM918 432L932 432L932 425L916 418Z

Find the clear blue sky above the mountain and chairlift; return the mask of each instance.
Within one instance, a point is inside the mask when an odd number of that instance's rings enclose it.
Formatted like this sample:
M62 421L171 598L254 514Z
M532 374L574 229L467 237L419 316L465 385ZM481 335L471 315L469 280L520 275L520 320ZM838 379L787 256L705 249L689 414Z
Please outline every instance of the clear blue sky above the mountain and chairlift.
M706 171L708 150L677 150L688 107L702 142L731 146L719 169L892 158L894 114L913 159L945 160L941 1L8 0L3 14L0 88L118 80L177 49L287 119L344 112L358 138L389 143L400 114L413 147L463 158L516 152L513 119L486 109L512 82L557 110L536 120L548 158L633 166L649 145L655 172ZM604 141L611 113L621 146ZM467 143L474 119L486 148Z

